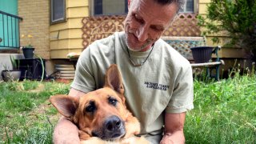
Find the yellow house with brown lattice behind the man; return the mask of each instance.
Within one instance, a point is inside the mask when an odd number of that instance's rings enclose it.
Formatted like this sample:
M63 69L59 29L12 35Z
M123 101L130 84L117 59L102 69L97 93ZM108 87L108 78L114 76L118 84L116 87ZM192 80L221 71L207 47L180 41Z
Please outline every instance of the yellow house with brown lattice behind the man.
M210 0L186 0L178 19L166 30L165 35L200 36L196 15L205 14L206 4L209 2ZM122 25L128 9L127 0L1 0L0 10L22 18L18 20L19 31L16 30L19 36L15 37L19 39L22 34L33 36L31 44L35 47L35 54L46 60L46 73L51 74L55 64L72 64L66 57L67 54L80 53L95 39L92 38L95 26L105 20ZM4 37L1 16L0 14L0 38ZM213 36L208 39L210 37ZM6 58L10 53L22 55L18 47L26 45L23 38L16 47L2 46L3 42L4 40L0 42L0 59ZM16 42L19 43L17 40ZM212 46L210 40L207 44ZM222 58L243 58L240 51L222 49L220 55Z

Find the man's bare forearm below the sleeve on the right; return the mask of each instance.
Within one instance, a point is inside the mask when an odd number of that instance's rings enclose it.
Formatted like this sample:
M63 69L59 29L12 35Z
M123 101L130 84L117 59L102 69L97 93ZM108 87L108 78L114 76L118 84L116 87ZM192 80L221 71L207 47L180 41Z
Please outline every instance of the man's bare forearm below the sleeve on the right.
M183 127L185 123L186 112L179 114L166 113L165 115L165 135L161 144L185 143Z

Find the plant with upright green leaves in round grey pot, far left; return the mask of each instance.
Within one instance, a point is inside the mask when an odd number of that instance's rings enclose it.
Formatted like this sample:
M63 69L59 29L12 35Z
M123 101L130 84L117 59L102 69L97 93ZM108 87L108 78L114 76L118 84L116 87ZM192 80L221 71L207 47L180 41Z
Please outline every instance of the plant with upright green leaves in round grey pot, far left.
M22 71L19 69L19 60L10 55L10 62L13 66L13 70L10 70L8 66L4 66L5 70L2 70L2 79L5 82L18 81L21 77Z

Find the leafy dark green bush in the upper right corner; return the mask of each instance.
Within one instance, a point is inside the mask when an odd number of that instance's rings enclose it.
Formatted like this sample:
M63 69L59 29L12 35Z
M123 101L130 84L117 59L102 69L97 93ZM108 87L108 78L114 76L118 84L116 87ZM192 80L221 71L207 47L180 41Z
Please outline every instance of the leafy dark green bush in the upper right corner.
M206 17L198 15L203 34L224 33L230 37L226 45L241 46L256 60L256 2L255 0L211 0ZM219 42L214 37L213 42Z

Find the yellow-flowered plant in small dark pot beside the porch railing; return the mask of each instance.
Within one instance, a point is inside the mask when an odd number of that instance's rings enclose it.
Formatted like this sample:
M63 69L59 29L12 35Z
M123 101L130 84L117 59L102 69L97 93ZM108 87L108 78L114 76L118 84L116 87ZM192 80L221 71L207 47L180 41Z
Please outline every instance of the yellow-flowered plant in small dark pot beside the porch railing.
M22 46L21 49L23 51L23 55L25 58L33 58L34 57L34 47L31 45L31 38L33 38L32 35L24 35L22 34L22 38L26 39L27 45Z

